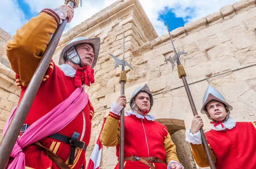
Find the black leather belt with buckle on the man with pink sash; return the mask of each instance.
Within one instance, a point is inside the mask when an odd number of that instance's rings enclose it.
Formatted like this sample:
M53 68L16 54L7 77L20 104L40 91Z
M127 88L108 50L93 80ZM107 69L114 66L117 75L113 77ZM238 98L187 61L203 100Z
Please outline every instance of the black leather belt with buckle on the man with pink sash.
M22 128L20 130L21 135L28 128L29 128L29 126L27 124L23 124L23 126L22 126ZM54 134L48 136L49 138L53 138L53 139L58 140L58 141L63 141L64 143L67 143L67 144L71 145L69 161L68 161L68 163L70 165L72 165L74 163L76 147L78 149L82 149L84 151L86 151L86 149L87 149L87 145L85 145L84 141L78 141L79 135L80 135L80 133L74 132L72 138L70 138L70 137L68 137L66 135L59 134L59 133L54 133Z

